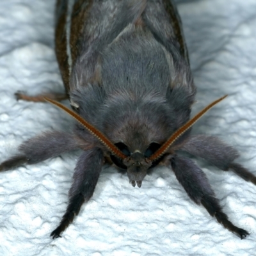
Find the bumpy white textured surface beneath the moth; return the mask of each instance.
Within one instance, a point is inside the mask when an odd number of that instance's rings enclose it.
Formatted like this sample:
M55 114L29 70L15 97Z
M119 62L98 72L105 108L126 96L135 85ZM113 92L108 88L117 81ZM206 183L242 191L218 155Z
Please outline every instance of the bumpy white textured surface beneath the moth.
M198 87L193 113L230 96L195 125L241 152L256 174L256 1L177 1ZM13 93L63 91L54 56L54 0L1 0L0 154L70 118L49 104L17 102ZM67 205L79 152L0 173L0 255L256 255L256 187L195 159L237 226L240 240L189 200L172 171L158 168L132 188L113 168L63 237L52 240Z

